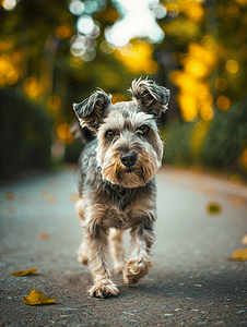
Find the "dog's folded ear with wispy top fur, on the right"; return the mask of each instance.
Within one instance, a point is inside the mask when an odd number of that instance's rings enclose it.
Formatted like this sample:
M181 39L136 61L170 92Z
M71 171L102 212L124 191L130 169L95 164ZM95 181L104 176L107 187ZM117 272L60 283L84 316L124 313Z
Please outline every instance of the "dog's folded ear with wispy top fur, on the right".
M142 110L155 118L168 110L169 90L150 80L134 80L129 88L133 100L142 106Z

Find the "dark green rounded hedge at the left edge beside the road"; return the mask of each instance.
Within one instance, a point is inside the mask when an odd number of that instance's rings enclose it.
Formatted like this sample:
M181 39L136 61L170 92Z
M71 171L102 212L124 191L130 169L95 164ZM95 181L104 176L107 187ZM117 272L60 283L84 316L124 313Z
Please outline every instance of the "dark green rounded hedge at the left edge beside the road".
M0 179L50 165L50 120L14 89L0 90Z

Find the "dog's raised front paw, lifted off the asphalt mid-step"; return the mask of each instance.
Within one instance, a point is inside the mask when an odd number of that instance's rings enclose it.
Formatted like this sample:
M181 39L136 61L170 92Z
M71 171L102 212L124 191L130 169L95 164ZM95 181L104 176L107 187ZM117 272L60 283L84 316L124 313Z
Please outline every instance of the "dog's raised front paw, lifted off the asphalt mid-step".
M141 278L149 274L153 267L153 261L150 258L129 259L126 262L125 270L122 274L124 282L129 284L137 283Z

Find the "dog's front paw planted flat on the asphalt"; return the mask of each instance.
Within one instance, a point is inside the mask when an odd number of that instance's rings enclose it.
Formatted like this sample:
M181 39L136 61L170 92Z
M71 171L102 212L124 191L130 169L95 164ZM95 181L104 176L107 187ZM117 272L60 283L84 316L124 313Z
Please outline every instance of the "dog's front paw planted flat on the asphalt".
M103 279L95 282L89 289L89 293L91 296L107 299L110 296L117 296L120 292L111 280Z

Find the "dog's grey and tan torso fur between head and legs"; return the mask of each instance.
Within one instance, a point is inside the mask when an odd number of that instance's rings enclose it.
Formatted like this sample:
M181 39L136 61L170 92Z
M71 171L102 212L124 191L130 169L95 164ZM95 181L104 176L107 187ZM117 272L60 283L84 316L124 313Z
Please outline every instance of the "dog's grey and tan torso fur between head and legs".
M81 196L85 218L93 207L95 219L97 220L98 211L101 225L106 229L128 229L143 220L153 221L156 209L155 178L145 186L133 189L104 181L101 168L97 167L96 148L97 140L94 140L85 146L80 157Z

